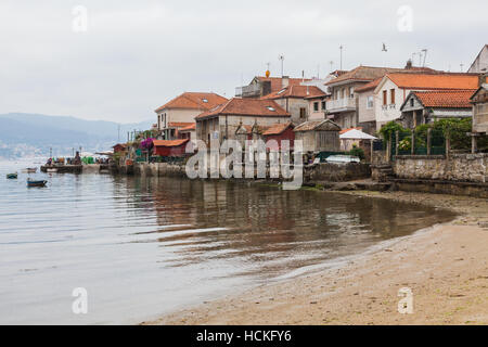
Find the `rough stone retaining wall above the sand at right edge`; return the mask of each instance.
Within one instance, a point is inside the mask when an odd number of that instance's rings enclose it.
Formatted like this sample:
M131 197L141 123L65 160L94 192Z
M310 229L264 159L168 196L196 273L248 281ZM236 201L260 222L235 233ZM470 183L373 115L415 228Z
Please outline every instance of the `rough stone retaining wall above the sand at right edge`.
M488 154L402 155L393 163L401 179L488 183Z

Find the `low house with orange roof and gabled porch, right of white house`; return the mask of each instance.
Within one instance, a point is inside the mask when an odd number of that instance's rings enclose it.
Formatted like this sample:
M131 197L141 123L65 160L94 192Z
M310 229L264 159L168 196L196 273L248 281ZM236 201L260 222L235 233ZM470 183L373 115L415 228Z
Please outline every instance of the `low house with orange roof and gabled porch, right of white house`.
M403 127L413 129L441 118L471 118L471 90L411 91L400 106Z

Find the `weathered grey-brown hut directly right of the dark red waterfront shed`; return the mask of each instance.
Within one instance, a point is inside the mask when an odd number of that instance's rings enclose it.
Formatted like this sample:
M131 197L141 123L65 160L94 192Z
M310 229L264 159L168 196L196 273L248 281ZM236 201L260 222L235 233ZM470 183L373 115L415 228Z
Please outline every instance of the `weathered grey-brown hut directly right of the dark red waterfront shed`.
M295 127L295 141L303 141L304 152L339 152L341 127L330 119L309 120Z

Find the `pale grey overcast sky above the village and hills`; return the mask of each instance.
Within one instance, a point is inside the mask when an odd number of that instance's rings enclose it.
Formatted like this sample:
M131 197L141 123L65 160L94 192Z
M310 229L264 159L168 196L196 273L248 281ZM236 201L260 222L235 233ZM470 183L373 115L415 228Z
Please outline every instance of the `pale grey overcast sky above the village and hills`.
M88 10L76 33L76 5ZM398 10L412 9L412 31ZM0 113L131 123L183 91L226 97L271 63L280 75L360 64L466 69L488 43L488 1L9 1L0 3ZM79 23L79 22L75 22ZM402 22L404 23L404 22ZM385 42L388 52L382 52Z

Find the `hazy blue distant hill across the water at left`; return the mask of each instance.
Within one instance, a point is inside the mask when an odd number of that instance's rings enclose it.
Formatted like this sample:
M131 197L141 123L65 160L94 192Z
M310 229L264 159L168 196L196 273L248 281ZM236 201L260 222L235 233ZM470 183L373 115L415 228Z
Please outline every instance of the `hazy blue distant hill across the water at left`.
M127 140L127 131L150 129L154 120L117 124L105 120L85 120L70 116L41 114L0 114L0 157L72 154L73 149L106 151Z

